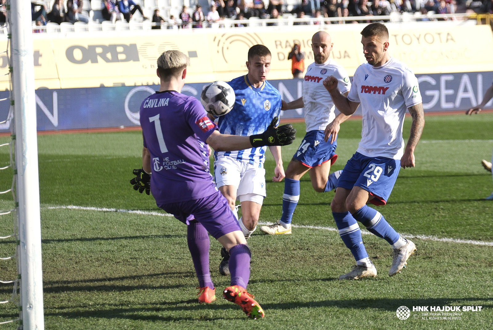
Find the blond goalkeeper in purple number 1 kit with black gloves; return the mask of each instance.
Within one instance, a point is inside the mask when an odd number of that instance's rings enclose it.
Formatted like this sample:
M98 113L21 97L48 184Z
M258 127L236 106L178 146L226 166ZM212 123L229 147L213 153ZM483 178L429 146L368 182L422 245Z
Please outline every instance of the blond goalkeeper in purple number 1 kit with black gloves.
M141 193L152 191L158 207L187 224L187 243L199 280L199 302L215 300L209 271L209 235L229 251L231 286L227 300L240 305L248 317L264 317L260 305L246 292L250 276L250 249L228 202L209 173L209 149L242 150L290 144L290 125L272 126L261 134L223 135L194 97L180 94L188 57L177 50L164 52L157 61L159 91L141 105L142 169L131 180ZM151 175L152 174L152 175Z

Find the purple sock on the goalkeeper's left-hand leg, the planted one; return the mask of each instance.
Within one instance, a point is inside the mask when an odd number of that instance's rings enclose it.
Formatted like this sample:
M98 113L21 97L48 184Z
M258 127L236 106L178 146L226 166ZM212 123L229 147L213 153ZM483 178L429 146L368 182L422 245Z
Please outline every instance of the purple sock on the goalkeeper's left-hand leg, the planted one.
M192 220L187 226L186 234L188 250L192 255L193 266L199 279L199 287L214 289L209 271L210 241L206 228L200 222Z

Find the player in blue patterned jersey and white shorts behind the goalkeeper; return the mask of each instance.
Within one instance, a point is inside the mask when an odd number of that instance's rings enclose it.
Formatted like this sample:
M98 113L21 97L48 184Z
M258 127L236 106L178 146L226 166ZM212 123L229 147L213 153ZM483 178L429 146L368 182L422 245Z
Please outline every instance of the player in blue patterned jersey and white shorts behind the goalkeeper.
M248 50L248 73L229 82L236 101L233 109L219 117L219 132L247 136L263 132L281 111L281 94L267 79L271 65L271 52L264 45L254 45ZM276 168L272 181L284 178L281 147L269 147ZM245 238L255 231L265 193L266 147L248 148L234 152L214 151L214 178L219 191L235 212L240 200L242 217L239 219ZM228 254L221 250L223 260L219 272L228 275Z

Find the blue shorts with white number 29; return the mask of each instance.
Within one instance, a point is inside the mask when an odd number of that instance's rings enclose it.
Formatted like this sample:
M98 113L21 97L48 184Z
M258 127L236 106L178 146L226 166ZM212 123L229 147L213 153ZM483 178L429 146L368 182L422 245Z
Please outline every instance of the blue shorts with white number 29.
M375 196L370 203L385 205L397 180L400 160L387 157L367 157L359 152L352 155L339 177L337 187L352 189L358 186Z

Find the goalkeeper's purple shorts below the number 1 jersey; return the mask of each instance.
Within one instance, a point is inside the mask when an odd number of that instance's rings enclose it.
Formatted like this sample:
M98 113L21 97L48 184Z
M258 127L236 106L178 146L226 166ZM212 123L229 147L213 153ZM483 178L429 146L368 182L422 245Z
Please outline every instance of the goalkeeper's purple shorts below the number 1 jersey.
M215 239L242 230L228 201L219 191L200 199L158 206L186 225L194 219L199 221Z

